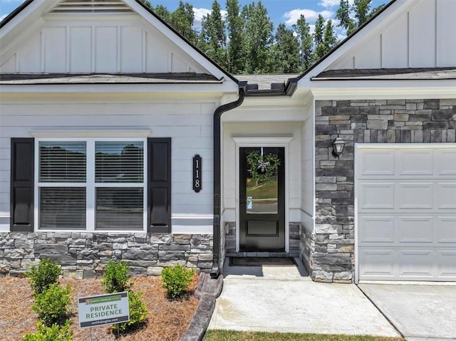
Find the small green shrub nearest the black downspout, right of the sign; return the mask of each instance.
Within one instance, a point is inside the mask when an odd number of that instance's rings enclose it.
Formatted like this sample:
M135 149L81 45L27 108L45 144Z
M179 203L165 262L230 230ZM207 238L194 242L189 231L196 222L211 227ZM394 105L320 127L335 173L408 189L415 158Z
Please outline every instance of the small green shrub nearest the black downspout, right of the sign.
M162 283L163 288L168 292L168 297L171 299L182 298L194 274L195 269L187 269L180 264L164 268L162 270Z

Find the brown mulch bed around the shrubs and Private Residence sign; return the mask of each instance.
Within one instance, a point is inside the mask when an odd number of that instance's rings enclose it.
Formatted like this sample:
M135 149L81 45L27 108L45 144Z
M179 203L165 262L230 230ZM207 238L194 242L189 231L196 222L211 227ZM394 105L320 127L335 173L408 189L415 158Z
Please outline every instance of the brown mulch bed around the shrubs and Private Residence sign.
M71 317L74 341L108 341L108 340L141 340L141 341L175 341L184 335L187 326L198 305L198 299L192 295L197 287L195 275L190 284L189 294L184 300L168 300L166 290L162 288L160 277L134 277L133 291L142 291L142 301L146 303L147 324L141 330L121 335L111 331L110 326L79 329L78 297L101 295L103 288L100 279L76 280L61 278L63 287L71 285ZM36 332L36 313L31 310L33 293L28 278L0 278L0 341L18 341L27 332Z

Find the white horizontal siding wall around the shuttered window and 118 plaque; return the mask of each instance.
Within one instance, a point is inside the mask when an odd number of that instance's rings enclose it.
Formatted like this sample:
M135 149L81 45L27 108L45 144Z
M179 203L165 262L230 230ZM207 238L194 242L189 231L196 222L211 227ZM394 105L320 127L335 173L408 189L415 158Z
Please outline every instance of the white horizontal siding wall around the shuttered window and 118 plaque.
M0 231L9 231L11 137L31 137L37 130L119 130L121 137L122 130L140 129L172 138L172 232L212 233L212 117L219 103L62 102L1 105ZM203 160L199 193L192 187L195 154Z

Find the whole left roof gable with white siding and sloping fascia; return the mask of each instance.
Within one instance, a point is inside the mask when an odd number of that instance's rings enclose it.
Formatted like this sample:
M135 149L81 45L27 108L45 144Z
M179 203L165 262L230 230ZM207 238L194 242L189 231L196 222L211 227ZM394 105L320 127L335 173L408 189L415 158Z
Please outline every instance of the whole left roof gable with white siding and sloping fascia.
M1 73L206 73L236 81L135 0L26 1L5 21Z

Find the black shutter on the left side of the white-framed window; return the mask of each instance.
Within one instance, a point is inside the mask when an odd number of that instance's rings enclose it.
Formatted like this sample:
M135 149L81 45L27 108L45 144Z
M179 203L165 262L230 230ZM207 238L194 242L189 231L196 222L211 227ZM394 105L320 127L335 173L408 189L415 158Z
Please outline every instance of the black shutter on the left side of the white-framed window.
M33 231L33 138L11 139L11 231Z

